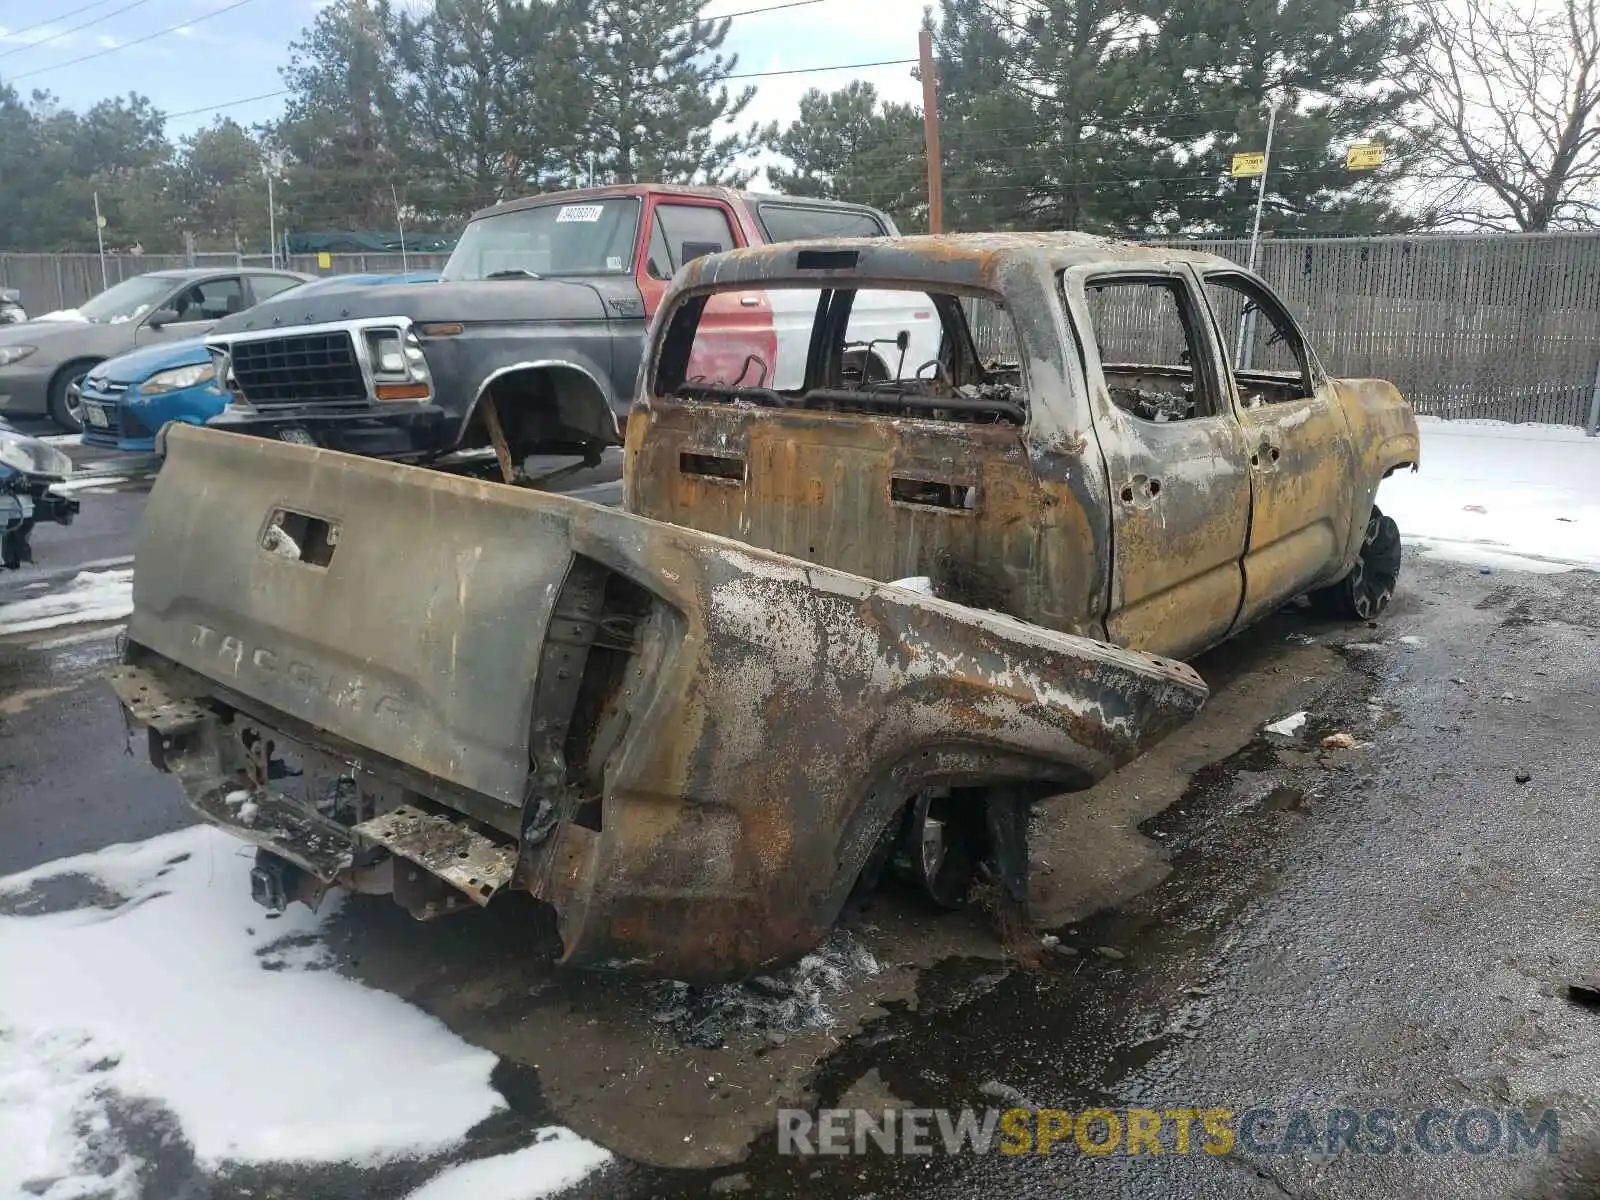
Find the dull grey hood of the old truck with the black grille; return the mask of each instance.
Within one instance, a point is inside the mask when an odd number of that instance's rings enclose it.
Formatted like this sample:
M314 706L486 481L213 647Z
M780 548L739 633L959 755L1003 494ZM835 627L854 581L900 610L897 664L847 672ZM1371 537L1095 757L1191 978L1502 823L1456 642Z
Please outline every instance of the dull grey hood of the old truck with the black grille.
M600 293L582 280L464 280L430 283L390 283L376 288L349 288L312 296L285 293L280 299L221 320L211 336L323 325L362 317L410 317L416 322L541 322L605 320Z

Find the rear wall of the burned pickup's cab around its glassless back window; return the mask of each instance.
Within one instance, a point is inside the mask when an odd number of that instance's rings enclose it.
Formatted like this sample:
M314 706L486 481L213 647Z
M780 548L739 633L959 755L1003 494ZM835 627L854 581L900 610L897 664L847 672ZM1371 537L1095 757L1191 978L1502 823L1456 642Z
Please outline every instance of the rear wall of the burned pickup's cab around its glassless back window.
M794 253L803 261L803 248ZM757 410L659 394L662 357L675 338L686 336L678 328L683 306L718 288L757 283L1000 302L1021 350L1024 422ZM1034 269L1003 282L968 282L798 266L754 277L725 270L717 283L683 288L674 307L658 315L651 362L640 374L626 504L656 520L867 578L931 576L954 598L1102 637L1110 560L1104 472L1053 291L1054 275ZM685 454L726 459L734 464L728 474L738 478L688 477ZM933 502L896 496L894 480L925 483L923 499ZM957 494L962 502L952 504ZM966 499L976 507L966 507Z

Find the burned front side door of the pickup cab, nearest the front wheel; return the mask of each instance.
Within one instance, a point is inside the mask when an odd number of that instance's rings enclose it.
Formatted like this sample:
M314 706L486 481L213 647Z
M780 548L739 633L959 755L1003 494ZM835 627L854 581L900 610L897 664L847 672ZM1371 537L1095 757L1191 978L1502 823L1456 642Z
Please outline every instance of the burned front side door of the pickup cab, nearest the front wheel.
M1333 382L1299 322L1264 280L1243 267L1190 266L1211 328L1222 350L1224 387L1250 450L1250 544L1245 552L1245 600L1237 626L1246 626L1314 586L1342 573L1355 520L1357 462L1350 426ZM1208 288L1235 285L1256 293L1258 312L1291 339L1306 395L1246 405L1235 374L1229 331L1211 306ZM1360 517L1365 523L1365 514Z

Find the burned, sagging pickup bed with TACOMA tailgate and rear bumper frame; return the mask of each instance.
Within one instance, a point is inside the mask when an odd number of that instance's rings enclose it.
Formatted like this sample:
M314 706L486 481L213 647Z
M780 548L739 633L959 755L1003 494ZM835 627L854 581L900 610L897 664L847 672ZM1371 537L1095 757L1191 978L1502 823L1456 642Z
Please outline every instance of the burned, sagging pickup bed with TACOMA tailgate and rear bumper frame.
M563 962L688 979L816 944L918 798L1006 843L1206 696L717 534L189 427L115 688L195 810L267 851L259 899L434 917L520 888Z

